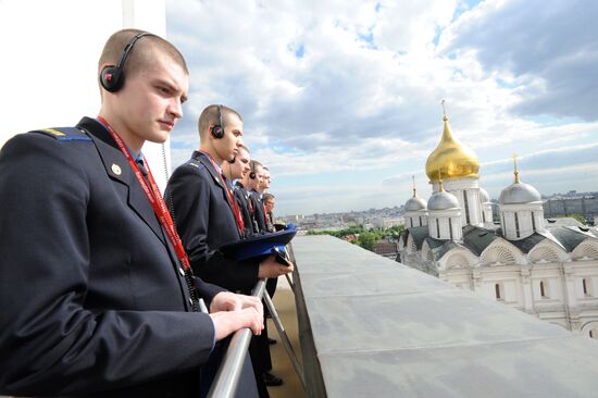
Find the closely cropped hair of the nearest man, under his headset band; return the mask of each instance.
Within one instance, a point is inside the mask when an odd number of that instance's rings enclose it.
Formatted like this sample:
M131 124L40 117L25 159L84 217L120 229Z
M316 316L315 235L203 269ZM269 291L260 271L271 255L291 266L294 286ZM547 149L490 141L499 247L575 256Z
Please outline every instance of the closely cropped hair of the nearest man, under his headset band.
M127 42L140 33L147 33L139 29L122 29L114 33L103 47L102 54L98 61L98 74L101 72L102 65L116 65ZM161 55L165 54L173 62L177 63L188 75L189 70L183 54L170 41L164 40L160 36L149 34L139 38L133 49L129 51L123 72L127 77L142 71L147 65L155 62L155 54L152 50L158 50Z

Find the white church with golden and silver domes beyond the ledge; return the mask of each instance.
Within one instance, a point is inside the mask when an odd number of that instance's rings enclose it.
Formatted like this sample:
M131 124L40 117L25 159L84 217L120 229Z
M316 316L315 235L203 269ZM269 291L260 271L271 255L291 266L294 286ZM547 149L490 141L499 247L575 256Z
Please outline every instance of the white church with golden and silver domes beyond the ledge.
M477 157L444 122L426 162L433 194L424 200L413 188L404 204L397 261L598 338L598 229L545 220L539 192L521 182L515 162L494 222Z

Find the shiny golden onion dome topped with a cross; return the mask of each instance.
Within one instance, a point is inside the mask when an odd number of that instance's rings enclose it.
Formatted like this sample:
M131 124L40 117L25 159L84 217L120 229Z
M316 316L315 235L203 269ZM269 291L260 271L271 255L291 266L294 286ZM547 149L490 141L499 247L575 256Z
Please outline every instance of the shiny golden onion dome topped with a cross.
M436 149L427 157L425 172L432 182L460 177L477 177L479 161L474 151L452 137L445 114L445 130Z

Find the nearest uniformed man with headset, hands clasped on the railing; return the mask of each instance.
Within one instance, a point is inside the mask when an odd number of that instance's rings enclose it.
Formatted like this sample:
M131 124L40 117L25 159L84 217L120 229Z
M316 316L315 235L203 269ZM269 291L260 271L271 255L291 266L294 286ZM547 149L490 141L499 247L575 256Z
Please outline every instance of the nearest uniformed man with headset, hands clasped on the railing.
M0 394L196 397L214 343L259 334L262 307L194 276L140 152L183 115L183 55L125 29L98 66L96 119L0 152Z

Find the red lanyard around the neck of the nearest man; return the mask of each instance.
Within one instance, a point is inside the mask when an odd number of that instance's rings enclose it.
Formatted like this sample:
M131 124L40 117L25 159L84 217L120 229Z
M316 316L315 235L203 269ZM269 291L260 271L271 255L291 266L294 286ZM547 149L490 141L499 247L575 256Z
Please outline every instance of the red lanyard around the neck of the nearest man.
M184 270L187 271L189 269L189 259L187 259L187 254L185 253L185 249L183 248L183 242L180 241L180 238L176 233L174 223L171 217L171 213L169 213L169 210L166 208L166 203L164 203L164 199L162 199L162 195L160 195L160 189L158 188L158 184L155 184L155 181L151 175L151 171L149 169L148 162L144 159L144 165L148 171L148 179L149 179L150 186L148 186L148 183L144 178L144 175L141 174L139 166L133 159L133 156L128 151L128 148L126 147L125 142L123 142L123 139L116 134L116 132L112 128L112 126L108 124L105 119L103 119L102 116L98 116L98 120L102 122L103 125L108 128L108 132L110 133L114 141L116 141L116 145L121 149L121 152L123 152L125 158L128 160L128 164L130 164L130 167L135 172L135 175L139 181L139 184L141 184L141 188L144 188L144 192L146 194L146 197L148 198L151 204L151 208L155 213L155 216L160 221L162 228L165 231L166 235L169 236L169 239L171 240L174 247L174 250L176 251L178 261L180 261L180 263L183 264Z

